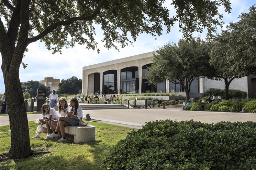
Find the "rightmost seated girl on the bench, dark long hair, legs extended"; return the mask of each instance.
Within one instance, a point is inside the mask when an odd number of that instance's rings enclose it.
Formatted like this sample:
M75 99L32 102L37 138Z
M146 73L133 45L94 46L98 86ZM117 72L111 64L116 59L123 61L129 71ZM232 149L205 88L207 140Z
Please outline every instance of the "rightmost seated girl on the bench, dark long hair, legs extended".
M73 97L70 100L70 105L71 105L70 112L66 112L67 113L66 117L63 117L63 116L59 117L55 131L52 134L47 135L46 136L47 138L56 138L58 136L58 131L60 130L62 138L60 138L56 142L67 142L67 138L65 135L65 126L79 126L79 121L82 120L83 118L83 110L79 106L79 102L75 97Z

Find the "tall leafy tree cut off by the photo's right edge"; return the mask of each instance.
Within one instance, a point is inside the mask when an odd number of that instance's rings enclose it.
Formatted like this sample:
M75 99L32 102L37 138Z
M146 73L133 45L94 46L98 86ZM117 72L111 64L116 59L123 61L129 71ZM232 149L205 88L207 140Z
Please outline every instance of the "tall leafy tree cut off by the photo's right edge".
M249 11L213 41L209 62L216 69L215 79L225 82L226 100L234 79L256 73L256 8L252 6Z

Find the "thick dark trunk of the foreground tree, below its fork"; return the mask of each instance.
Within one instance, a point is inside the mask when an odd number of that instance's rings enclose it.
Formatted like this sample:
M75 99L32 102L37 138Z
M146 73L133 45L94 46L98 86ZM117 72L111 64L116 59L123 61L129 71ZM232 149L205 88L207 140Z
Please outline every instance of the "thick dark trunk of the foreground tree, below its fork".
M15 60L15 58L22 59L24 51L22 52L21 50L19 56L16 57L10 55L10 53L2 53L3 63L1 68L3 71L5 101L7 103L11 129L9 157L19 159L32 155L25 102L19 78L21 60Z

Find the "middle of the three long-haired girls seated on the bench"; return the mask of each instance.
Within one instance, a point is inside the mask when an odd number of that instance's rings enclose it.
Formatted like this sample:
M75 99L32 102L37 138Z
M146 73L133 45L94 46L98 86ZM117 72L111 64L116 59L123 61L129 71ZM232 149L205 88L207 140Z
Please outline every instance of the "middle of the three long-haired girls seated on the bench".
M59 105L58 105L58 113L60 114L60 116L66 117L67 116L67 114L66 114L67 111L68 112L70 111L70 107L68 105L68 102L65 99L65 97L60 97ZM55 129L57 127L58 119L59 119L59 117L56 117L56 118L54 118L54 119L52 119L48 122L49 126L51 127L51 129L53 131L55 131Z

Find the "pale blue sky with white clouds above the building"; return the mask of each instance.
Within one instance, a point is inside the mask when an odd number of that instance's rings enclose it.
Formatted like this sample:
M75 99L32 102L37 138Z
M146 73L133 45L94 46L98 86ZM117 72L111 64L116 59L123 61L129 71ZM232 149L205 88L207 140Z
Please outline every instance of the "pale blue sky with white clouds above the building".
M223 29L230 22L238 21L239 19L237 17L241 13L248 13L248 9L256 3L255 0L230 0L230 2L232 7L231 13L224 13L224 8L220 7L220 12L224 16L222 20L225 22ZM100 42L102 37L97 32L95 38L98 40L100 53L97 53L96 50L85 49L85 45L76 45L74 48L63 48L62 54L52 54L52 51L48 51L43 42L36 41L27 47L29 52L25 53L25 57L23 58L23 62L27 64L27 68L24 69L20 66L20 81L40 81L44 80L45 77L62 80L71 78L72 76L82 79L82 67L84 66L155 51L168 42L178 42L182 38L178 24L174 25L169 34L165 34L165 32L163 30L163 35L157 36L157 40L151 35L141 34L137 37L133 46L131 44L125 48L119 46L119 52L115 49L107 50L104 48L103 43ZM220 32L221 28L218 30L218 33ZM204 39L205 35L206 31L202 34L198 32L193 34L194 37L200 36L201 39ZM2 64L1 57L0 63ZM2 71L0 72L0 93L4 93L3 74Z

